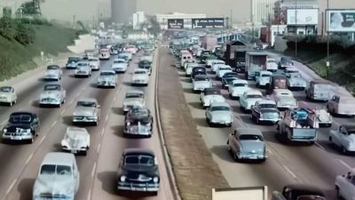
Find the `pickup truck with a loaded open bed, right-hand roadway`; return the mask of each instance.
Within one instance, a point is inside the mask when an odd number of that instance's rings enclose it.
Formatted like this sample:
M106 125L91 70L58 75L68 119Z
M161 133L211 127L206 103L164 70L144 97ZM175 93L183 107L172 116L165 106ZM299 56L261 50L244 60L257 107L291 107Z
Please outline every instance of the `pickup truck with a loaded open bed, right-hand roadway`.
M308 115L304 108L288 108L281 116L277 126L277 135L296 142L309 142L317 139L319 124L314 115Z

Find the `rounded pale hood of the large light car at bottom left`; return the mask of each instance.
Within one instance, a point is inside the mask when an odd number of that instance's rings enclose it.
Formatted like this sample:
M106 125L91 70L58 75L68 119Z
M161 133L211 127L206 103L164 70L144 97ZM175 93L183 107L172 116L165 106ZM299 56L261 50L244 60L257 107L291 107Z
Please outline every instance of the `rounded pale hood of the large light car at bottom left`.
M34 195L51 194L75 196L75 180L67 175L39 175L34 186Z

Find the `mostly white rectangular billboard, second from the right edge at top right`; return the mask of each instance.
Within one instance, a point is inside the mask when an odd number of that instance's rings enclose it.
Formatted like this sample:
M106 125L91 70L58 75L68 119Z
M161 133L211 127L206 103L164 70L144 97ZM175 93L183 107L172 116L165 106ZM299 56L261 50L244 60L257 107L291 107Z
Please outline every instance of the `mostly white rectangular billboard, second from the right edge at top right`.
M288 25L317 25L318 9L288 9ZM296 19L297 17L297 19Z

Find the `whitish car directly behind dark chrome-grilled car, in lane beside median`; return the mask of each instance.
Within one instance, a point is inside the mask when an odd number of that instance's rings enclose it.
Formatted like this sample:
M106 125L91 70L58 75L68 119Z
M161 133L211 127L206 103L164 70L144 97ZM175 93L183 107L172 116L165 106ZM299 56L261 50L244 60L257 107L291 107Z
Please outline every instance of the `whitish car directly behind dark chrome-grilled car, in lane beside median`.
M145 108L146 100L143 91L130 90L126 92L126 96L123 100L123 112L128 112L130 108L140 107Z

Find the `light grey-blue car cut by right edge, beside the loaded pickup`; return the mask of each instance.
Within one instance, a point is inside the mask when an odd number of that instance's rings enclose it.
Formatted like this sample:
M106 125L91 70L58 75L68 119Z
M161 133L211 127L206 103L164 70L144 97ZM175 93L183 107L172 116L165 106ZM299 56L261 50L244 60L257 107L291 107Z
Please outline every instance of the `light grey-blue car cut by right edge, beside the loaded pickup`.
M355 125L343 124L329 133L329 141L342 149L343 154L355 153Z

